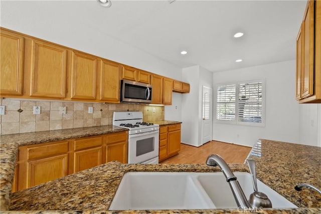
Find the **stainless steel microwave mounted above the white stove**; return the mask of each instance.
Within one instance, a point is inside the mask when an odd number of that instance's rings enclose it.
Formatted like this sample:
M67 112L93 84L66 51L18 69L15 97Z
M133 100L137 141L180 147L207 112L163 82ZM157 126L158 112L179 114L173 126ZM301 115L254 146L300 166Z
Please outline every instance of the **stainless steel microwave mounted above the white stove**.
M151 85L130 80L120 81L120 101L151 103Z

